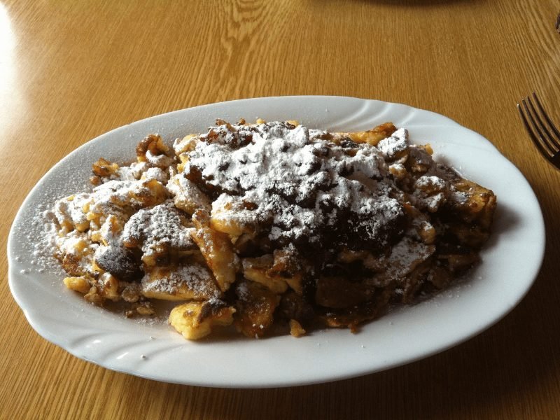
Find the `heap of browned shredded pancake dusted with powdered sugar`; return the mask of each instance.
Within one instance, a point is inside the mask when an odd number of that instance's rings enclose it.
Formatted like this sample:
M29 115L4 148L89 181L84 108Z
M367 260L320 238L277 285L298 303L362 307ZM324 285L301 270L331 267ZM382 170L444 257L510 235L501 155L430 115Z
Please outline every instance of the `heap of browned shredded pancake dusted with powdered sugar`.
M445 288L479 261L496 196L391 123L365 132L217 120L92 165L50 211L66 287L187 339L357 325Z

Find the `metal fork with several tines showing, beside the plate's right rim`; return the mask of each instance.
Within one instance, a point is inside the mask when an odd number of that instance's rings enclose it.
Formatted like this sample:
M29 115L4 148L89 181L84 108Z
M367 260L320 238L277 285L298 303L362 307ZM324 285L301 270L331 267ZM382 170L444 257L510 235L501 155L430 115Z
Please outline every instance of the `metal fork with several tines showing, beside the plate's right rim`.
M536 108L531 97L526 97L521 100L523 108L517 104L517 110L540 154L556 169L560 169L560 132L542 108L535 92L533 92L533 99Z

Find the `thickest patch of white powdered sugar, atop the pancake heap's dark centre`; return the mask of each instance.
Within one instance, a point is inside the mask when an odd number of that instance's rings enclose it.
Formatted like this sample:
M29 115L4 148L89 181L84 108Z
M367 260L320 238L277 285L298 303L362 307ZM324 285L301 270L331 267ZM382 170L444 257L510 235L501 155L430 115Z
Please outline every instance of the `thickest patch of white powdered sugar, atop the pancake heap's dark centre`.
M218 199L213 212L225 218L232 209L238 222L268 225L279 246L321 247L325 235L337 235L349 246L379 247L401 231L402 207L389 195L395 185L373 146L338 146L286 123L221 125L200 140L185 173ZM251 211L240 217L244 207Z

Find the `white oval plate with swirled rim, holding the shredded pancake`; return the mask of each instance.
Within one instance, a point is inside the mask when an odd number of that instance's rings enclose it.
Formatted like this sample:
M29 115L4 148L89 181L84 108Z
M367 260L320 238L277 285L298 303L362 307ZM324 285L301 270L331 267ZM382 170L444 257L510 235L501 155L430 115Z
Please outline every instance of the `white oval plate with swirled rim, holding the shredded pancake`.
M62 283L62 271L39 272L31 226L41 205L83 189L91 163L130 160L146 134L167 141L202 132L215 118L297 119L309 127L365 130L386 121L430 143L435 158L498 196L493 236L483 261L463 281L424 302L348 330L320 330L295 339L188 342L166 323L139 323L85 303ZM356 377L448 349L496 323L521 300L538 274L545 246L540 207L524 176L492 144L436 113L347 97L269 97L197 106L103 134L43 176L15 218L8 239L10 289L31 326L74 356L159 381L256 388ZM145 356L145 357L142 357Z

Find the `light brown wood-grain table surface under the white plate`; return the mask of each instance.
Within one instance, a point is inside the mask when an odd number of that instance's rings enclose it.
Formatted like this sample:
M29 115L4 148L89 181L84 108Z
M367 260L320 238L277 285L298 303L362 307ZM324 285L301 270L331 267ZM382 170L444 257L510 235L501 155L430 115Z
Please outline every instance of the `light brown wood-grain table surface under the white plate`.
M515 108L535 90L560 121L558 12L552 0L1 2L3 249L29 190L85 141L167 111L288 94L401 102L470 127L524 173L548 237L528 295L468 342L365 377L262 390L163 384L70 356L27 323L3 254L0 417L559 418L560 172Z

